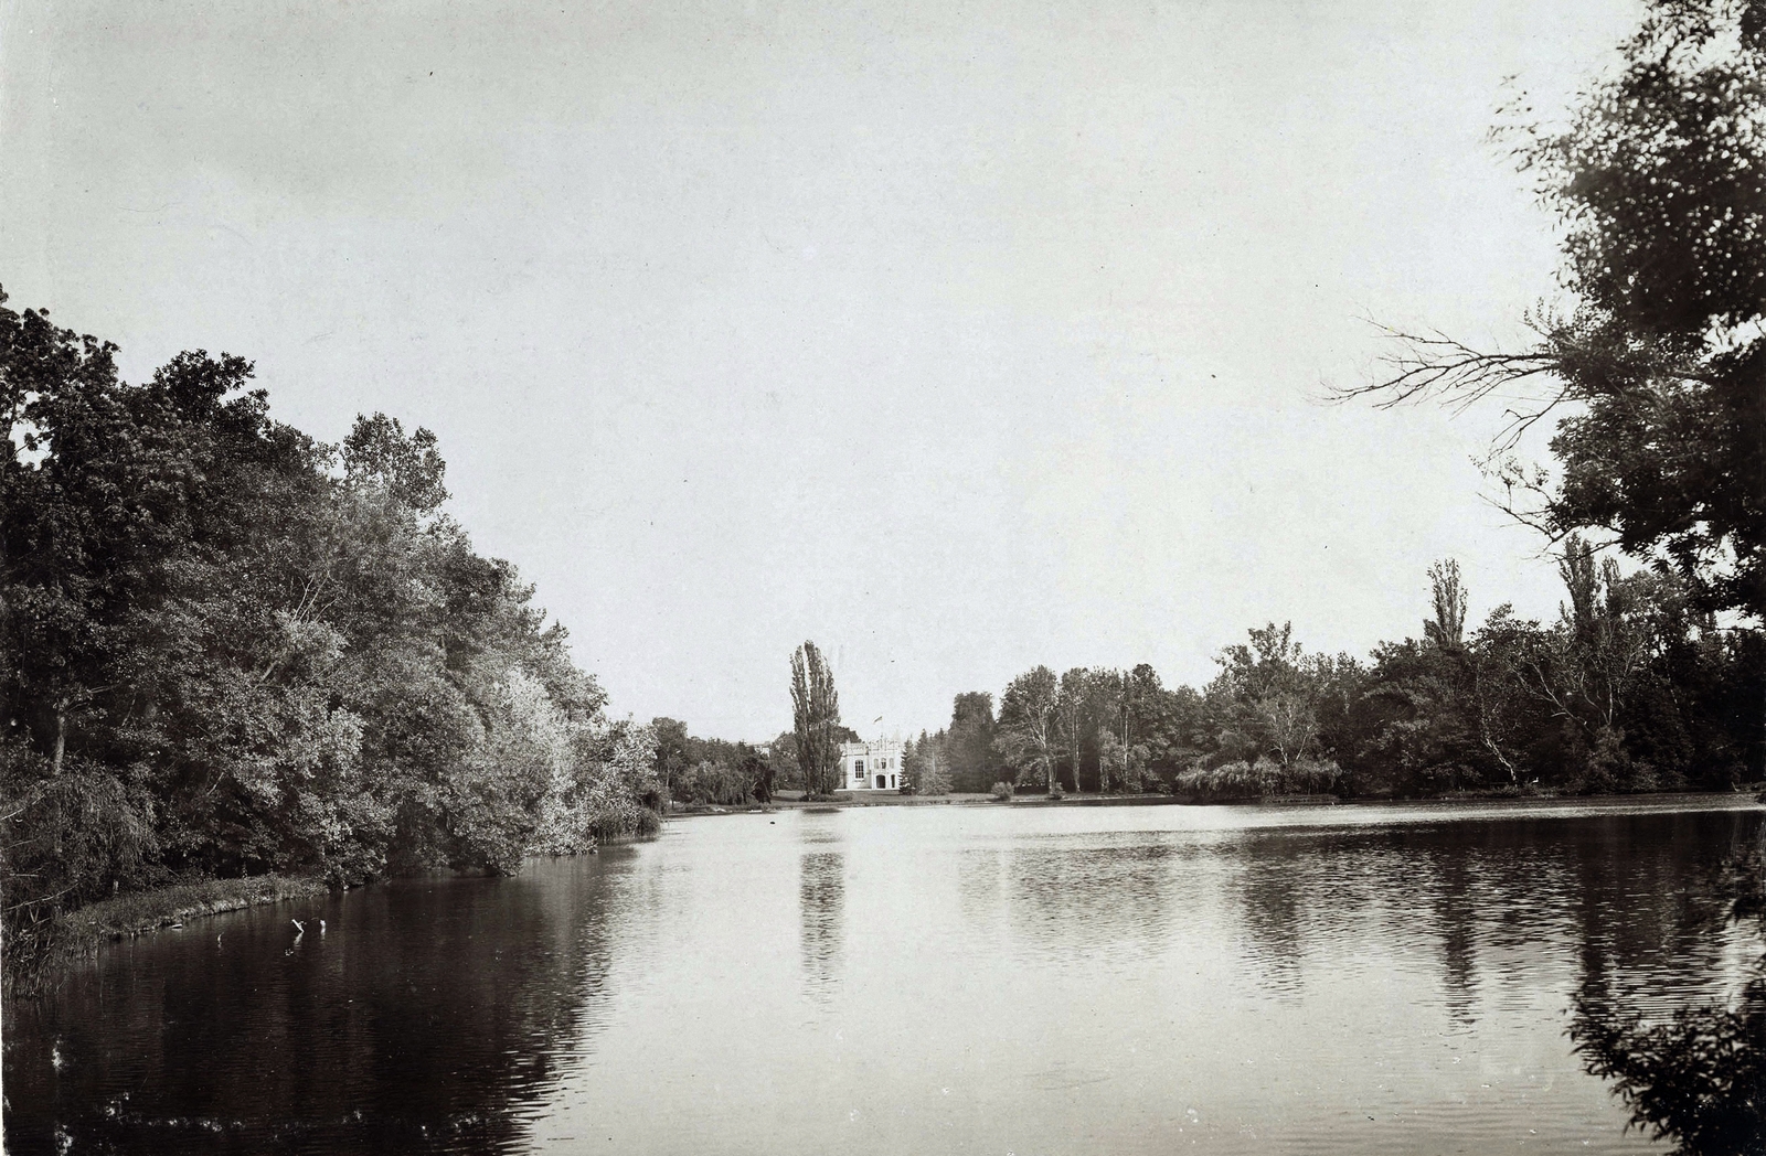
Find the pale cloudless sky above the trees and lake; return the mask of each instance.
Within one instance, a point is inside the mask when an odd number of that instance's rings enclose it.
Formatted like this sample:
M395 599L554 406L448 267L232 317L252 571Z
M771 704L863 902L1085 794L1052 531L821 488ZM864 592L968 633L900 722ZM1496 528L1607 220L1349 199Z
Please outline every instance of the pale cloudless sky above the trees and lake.
M0 0L0 284L426 425L613 711L865 734L1038 662L1549 618L1496 409L1317 404L1360 321L1517 341L1552 222L1485 141L1632 0ZM874 724L881 717L885 722Z

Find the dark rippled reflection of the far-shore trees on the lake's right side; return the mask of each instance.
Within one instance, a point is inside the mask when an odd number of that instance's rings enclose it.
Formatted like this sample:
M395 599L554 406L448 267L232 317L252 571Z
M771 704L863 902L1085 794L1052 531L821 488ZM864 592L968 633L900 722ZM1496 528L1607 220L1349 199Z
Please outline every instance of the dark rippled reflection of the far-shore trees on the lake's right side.
M1478 1013L1480 978L1552 981L1577 937L1623 960L1634 995L1701 987L1720 965L1687 881L1722 854L1747 812L1517 817L1443 824L1266 831L1220 847L1243 905L1257 983L1291 990L1324 944L1406 942L1439 953L1445 1010ZM1748 828L1752 829L1752 828ZM1685 976L1685 983L1681 981Z

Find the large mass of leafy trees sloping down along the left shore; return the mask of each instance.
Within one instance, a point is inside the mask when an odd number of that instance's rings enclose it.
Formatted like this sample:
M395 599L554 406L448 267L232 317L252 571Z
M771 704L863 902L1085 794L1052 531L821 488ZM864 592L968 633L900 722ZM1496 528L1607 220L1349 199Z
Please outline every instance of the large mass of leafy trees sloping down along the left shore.
M0 295L5 934L175 877L505 872L655 826L507 561L442 514L434 436L270 420L240 358L143 385Z

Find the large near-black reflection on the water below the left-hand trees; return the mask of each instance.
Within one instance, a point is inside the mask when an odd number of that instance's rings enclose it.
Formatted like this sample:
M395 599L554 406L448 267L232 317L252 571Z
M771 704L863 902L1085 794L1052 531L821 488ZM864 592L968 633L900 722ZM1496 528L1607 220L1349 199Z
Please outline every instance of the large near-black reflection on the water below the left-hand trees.
M286 907L143 941L7 1025L9 1151L514 1151L608 969L611 858L366 888L293 948Z

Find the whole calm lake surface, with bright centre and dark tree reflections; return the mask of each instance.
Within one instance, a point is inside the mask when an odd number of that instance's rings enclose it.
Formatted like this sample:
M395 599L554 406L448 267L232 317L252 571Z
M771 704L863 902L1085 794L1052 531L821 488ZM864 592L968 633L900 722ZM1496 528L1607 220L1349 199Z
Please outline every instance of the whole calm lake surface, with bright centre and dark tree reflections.
M1644 1152L1589 967L1722 994L1762 812L917 807L676 821L118 944L9 1010L14 1152ZM290 918L307 921L295 934ZM318 930L325 920L325 932Z

